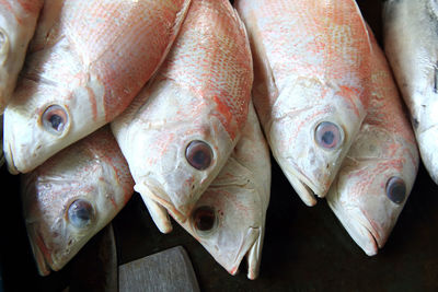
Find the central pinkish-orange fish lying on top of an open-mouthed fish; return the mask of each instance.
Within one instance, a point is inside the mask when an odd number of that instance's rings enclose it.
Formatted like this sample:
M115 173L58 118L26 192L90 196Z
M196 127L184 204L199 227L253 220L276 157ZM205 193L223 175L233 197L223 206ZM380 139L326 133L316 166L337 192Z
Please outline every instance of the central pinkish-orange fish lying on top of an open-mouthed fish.
M135 189L159 230L184 221L219 174L247 117L253 81L244 26L227 0L192 2L160 70L112 124Z

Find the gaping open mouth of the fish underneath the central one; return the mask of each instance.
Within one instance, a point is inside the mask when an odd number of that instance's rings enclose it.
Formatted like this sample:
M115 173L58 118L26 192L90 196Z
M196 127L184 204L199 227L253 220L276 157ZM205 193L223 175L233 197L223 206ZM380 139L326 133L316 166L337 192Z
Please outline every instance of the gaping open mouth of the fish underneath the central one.
M235 254L234 261L228 266L226 262L222 264L217 260L226 270L235 276L239 272L239 266L244 256L247 260L247 278L254 280L258 276L262 245L263 245L263 232L261 227L249 227L244 240L241 242L238 253Z

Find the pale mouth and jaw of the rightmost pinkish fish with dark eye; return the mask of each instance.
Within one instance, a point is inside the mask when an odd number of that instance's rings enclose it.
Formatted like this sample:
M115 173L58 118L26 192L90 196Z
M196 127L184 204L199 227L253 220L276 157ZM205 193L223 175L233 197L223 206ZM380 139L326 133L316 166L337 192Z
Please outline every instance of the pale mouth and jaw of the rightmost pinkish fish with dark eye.
M356 244L368 256L377 255L384 241L381 241L366 213L357 207L348 208L328 199L327 203Z

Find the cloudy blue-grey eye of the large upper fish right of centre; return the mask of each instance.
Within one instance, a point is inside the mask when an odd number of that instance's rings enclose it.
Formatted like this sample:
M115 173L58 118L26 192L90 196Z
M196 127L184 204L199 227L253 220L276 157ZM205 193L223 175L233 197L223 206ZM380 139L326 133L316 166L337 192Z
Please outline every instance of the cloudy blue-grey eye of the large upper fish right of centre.
M344 140L341 127L331 121L322 121L315 128L315 141L318 145L326 150L337 149Z

